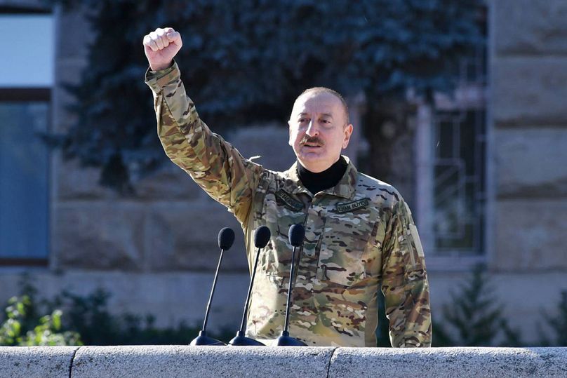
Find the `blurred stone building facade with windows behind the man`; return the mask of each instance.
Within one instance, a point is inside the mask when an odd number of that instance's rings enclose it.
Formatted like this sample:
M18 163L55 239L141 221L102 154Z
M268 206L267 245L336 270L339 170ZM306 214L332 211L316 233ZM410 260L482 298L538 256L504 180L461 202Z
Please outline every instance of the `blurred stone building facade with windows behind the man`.
M17 3L0 1L0 28L29 22L32 36L17 46L20 65L0 69L15 72L0 79L0 301L18 294L19 277L28 272L45 297L105 288L116 313L152 313L164 327L196 324L218 261L218 230L239 224L173 163L137 182L136 195L126 198L101 187L97 169L65 161L34 140L74 123L64 86L79 83L88 69L92 32L79 11ZM434 318L455 284L483 263L512 327L535 343L536 325L567 290L567 4L487 5L486 56L469 62L476 71L464 67L462 86L433 104L413 99L408 201L427 255ZM360 128L363 107L353 105ZM224 136L244 156L260 155L267 168L284 170L294 156L282 125ZM365 142L355 135L348 154L356 161ZM272 153L274 141L284 152ZM236 234L211 327L238 328L249 276Z

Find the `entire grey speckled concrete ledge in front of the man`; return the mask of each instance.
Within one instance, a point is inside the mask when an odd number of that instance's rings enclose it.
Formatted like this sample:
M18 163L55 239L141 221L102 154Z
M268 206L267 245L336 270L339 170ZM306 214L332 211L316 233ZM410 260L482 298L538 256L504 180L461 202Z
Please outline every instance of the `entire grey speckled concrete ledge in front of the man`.
M0 347L0 377L284 376L567 377L567 347Z

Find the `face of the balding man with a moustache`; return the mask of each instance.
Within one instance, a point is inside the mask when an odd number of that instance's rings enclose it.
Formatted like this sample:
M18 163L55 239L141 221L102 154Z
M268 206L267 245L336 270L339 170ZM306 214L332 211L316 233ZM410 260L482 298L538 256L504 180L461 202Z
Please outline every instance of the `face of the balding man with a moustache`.
M305 93L293 104L289 145L302 166L323 172L340 158L349 144L352 125L347 125L342 102L331 93Z

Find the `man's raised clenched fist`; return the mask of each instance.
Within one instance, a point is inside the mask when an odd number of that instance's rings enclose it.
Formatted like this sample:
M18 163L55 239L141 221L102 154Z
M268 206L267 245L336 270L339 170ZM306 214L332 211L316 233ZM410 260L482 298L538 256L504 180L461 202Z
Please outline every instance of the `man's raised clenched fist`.
M144 36L144 50L152 71L171 66L173 57L177 55L182 45L181 34L171 27L164 29L158 27L155 32Z

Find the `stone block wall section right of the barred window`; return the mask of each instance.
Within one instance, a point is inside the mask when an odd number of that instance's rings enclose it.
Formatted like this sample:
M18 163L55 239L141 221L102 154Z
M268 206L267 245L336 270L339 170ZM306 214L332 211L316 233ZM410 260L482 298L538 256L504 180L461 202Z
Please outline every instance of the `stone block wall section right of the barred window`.
M566 15L563 0L491 1L493 270L567 270Z

